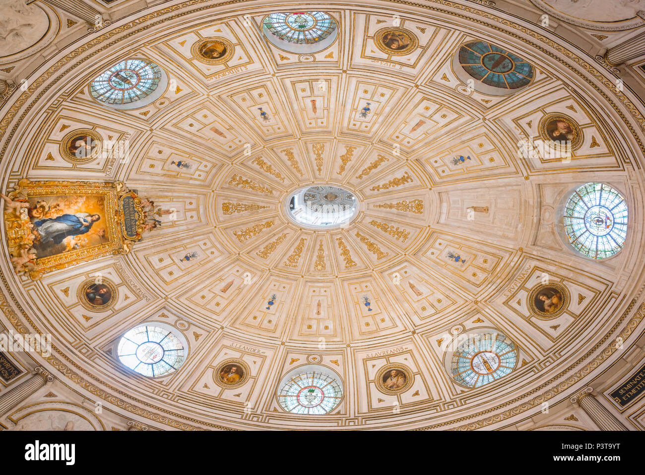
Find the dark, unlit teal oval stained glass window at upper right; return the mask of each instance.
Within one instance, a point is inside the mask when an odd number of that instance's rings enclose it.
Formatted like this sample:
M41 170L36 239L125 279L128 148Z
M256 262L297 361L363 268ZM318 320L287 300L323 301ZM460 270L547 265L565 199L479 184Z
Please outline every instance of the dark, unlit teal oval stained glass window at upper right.
M535 74L526 59L485 41L473 41L462 46L459 63L478 81L503 89L526 86Z

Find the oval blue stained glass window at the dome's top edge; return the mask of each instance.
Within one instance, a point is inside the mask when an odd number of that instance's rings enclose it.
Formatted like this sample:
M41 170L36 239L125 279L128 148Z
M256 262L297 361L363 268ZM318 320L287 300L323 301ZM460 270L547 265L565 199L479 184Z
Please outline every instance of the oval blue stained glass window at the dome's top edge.
M325 12L272 13L264 18L264 26L288 43L317 43L336 29L336 22Z

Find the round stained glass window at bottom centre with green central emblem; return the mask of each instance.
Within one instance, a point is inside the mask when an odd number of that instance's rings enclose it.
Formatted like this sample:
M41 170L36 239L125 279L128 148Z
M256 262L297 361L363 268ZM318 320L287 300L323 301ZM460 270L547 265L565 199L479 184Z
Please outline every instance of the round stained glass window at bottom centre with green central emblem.
M283 381L278 401L293 414L326 414L342 398L342 389L332 376L320 371L307 371Z

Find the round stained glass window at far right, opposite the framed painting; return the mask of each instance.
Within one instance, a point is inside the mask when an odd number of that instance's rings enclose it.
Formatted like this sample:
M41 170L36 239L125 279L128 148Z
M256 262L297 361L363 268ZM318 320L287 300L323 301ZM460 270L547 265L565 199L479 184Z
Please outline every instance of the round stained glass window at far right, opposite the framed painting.
M593 259L609 258L627 236L627 203L609 185L587 183L573 192L564 210L564 229L573 247Z

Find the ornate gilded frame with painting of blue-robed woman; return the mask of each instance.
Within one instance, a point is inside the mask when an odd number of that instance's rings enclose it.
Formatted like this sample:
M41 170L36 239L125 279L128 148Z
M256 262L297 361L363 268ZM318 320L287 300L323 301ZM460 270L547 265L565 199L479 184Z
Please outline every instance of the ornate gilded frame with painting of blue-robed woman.
M126 254L141 239L145 223L141 199L118 181L22 179L5 199L4 215L14 269L32 279Z

